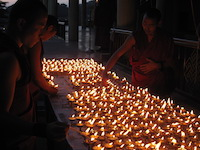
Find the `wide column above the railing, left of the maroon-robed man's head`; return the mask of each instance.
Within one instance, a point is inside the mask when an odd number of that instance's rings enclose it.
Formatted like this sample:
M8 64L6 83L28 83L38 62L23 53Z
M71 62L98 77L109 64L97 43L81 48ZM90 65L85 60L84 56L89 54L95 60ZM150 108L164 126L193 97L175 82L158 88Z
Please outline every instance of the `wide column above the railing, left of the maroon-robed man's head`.
M136 0L117 0L117 27L122 29L135 29L136 26Z

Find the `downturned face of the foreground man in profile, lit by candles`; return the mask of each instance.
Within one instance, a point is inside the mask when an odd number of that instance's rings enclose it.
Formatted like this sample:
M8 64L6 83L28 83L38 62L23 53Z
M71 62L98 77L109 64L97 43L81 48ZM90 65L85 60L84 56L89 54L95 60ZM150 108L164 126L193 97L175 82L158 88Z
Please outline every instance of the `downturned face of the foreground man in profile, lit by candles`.
M40 35L43 31L47 22L47 16L38 17L29 27L26 28L24 34L22 36L22 43L31 48L33 47L39 40Z

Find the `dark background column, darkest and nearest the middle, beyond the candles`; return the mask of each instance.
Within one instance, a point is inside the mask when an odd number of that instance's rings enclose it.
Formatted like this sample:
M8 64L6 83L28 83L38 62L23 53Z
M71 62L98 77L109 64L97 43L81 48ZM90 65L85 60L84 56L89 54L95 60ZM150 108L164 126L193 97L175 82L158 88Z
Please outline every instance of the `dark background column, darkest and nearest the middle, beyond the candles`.
M78 41L78 2L78 0L69 0L69 41Z

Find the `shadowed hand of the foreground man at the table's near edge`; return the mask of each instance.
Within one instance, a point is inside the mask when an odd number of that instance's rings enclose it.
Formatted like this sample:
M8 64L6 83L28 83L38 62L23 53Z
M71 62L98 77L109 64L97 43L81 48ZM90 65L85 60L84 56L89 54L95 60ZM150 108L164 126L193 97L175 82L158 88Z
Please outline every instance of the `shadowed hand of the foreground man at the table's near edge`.
M47 138L55 141L63 141L66 139L66 133L69 130L69 125L63 122L52 122L47 124Z

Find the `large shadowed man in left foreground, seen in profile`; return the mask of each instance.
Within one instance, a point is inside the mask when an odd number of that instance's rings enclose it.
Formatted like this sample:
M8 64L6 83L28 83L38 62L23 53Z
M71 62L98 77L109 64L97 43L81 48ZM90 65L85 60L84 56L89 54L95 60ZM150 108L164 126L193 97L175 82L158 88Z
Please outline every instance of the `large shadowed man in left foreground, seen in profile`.
M0 35L0 144L5 150L33 150L37 136L60 141L68 130L62 122L35 122L28 52L21 47L31 48L39 41L46 21L42 2L19 0L10 12L6 34Z

